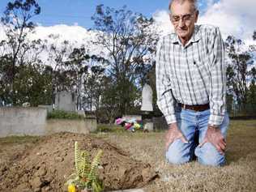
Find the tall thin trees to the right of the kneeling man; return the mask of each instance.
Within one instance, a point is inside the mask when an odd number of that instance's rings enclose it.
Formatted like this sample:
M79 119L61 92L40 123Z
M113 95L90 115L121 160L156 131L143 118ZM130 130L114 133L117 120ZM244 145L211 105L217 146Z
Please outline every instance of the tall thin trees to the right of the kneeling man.
M253 36L254 38L254 36ZM226 51L230 62L227 67L228 112L237 115L255 114L254 45L244 50L245 44L234 36L228 36ZM250 86L248 86L250 85Z

